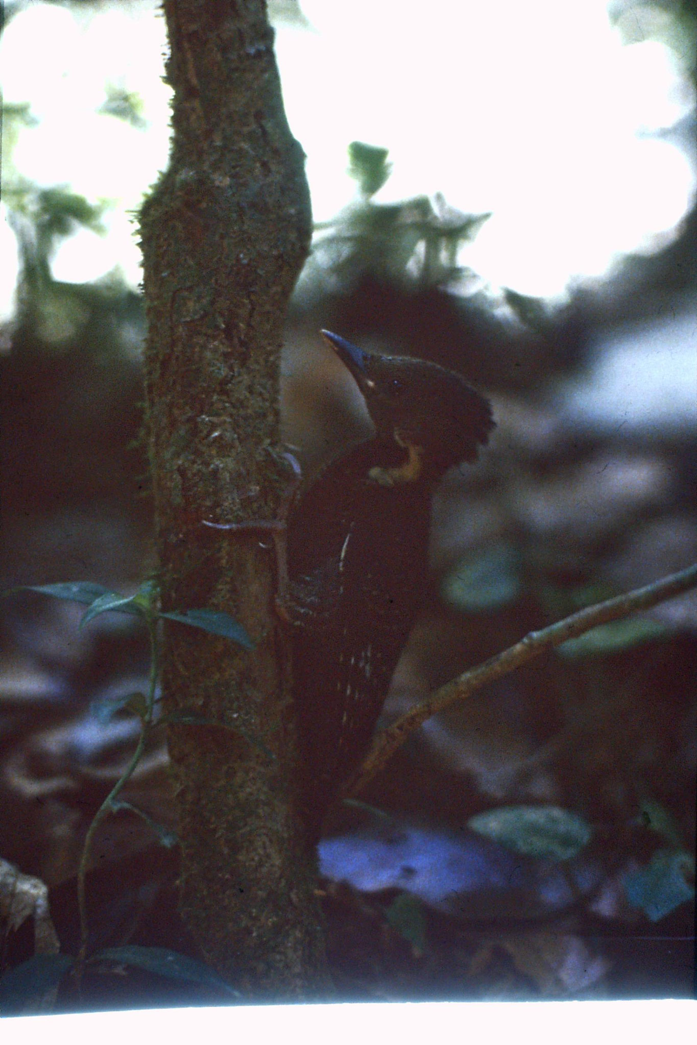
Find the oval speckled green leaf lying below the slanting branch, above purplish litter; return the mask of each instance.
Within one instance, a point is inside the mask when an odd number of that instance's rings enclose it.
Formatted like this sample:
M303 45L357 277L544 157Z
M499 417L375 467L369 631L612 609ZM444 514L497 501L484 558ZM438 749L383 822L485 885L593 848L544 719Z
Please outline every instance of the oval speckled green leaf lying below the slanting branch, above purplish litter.
M548 860L571 860L591 837L582 817L558 806L503 806L472 816L468 825L507 849Z

